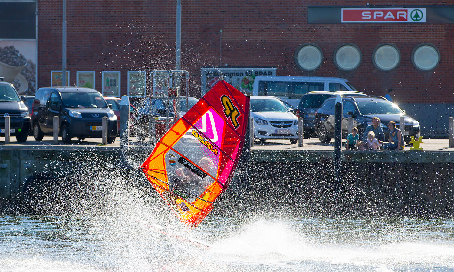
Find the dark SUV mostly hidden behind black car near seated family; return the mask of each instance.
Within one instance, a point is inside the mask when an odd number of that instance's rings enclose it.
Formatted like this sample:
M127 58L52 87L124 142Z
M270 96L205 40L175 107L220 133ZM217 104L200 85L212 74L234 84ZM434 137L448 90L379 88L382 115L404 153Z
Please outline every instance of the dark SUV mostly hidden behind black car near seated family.
M308 92L301 98L301 101L296 109L296 116L303 117L303 129L304 138L309 139L311 136L315 136L315 112L320 108L321 104L326 99L333 95L348 95L348 96L365 96L364 92L354 91L337 91L337 92L326 92L326 91L315 91Z

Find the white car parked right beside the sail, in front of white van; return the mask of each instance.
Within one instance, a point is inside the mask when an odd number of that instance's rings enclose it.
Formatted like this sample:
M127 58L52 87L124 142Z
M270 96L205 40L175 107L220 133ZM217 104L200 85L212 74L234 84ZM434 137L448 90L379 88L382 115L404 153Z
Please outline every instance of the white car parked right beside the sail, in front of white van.
M251 117L254 118L254 138L262 142L271 139L298 141L298 118L277 97L251 96Z

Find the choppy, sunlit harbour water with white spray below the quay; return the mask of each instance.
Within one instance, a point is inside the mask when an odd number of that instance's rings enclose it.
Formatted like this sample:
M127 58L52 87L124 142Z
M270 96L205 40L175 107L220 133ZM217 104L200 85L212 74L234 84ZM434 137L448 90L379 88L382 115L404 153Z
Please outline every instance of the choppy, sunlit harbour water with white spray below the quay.
M212 249L157 233L149 223L153 214L140 209L70 219L3 215L0 271L454 269L454 220L448 219L208 217L191 235Z

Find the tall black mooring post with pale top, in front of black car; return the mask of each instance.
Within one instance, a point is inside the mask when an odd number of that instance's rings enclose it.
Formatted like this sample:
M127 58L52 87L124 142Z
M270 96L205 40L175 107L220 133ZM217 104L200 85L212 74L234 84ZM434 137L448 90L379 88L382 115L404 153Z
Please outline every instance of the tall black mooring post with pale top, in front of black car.
M336 96L334 116L334 181L339 186L342 181L342 98Z

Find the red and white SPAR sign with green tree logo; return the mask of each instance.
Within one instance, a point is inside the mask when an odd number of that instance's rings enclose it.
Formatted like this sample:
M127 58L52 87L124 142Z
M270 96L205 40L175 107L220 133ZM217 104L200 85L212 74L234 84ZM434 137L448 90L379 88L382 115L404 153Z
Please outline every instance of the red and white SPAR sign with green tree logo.
M342 23L425 23L425 8L342 9Z

